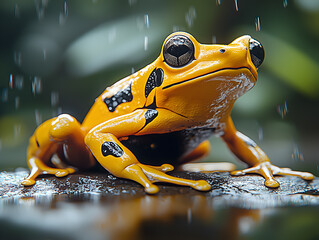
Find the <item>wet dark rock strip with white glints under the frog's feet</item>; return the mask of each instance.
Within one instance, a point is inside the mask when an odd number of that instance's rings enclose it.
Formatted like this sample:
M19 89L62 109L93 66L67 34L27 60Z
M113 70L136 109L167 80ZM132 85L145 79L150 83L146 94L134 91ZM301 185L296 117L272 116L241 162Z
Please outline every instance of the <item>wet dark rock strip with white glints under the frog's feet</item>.
M36 185L23 187L20 182L27 176L25 170L0 173L1 198L21 198L33 195L83 195L98 194L107 198L136 198L145 192L139 184L114 177L107 172L86 172L64 178L43 176ZM157 195L204 195L230 206L241 208L265 208L278 206L319 205L319 179L305 181L298 177L279 176L280 187L269 189L263 178L256 175L233 177L229 173L173 172L177 177L205 179L211 186L209 192L198 192L189 187L159 183Z

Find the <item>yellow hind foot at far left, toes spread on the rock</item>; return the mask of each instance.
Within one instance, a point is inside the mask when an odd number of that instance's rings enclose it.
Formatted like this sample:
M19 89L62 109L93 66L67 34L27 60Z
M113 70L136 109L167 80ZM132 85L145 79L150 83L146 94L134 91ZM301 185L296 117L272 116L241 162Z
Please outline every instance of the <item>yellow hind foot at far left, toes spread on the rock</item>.
M65 177L71 173L75 172L74 168L51 168L45 165L39 158L31 157L28 160L29 166L31 167L31 172L29 176L21 182L24 186L32 186L36 183L36 178L41 174L52 174L56 177Z

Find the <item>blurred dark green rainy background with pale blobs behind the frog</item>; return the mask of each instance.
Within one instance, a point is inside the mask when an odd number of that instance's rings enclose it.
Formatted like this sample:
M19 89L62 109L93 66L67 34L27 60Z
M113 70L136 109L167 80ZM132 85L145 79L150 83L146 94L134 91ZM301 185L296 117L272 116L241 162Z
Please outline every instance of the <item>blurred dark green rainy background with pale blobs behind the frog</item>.
M174 31L201 43L250 34L266 58L233 110L236 127L279 166L319 175L319 1L3 0L0 2L0 170L26 167L42 121L82 121L94 99L160 53ZM243 167L218 139L206 161Z

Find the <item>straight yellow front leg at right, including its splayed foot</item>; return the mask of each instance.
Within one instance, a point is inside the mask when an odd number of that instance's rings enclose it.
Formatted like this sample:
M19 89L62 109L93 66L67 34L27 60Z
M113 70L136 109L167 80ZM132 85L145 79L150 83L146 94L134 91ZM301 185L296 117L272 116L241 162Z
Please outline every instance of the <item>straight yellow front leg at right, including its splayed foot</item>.
M308 172L292 171L289 168L279 168L269 161L267 155L257 146L257 144L238 132L235 129L232 119L229 117L224 129L223 140L227 143L230 150L250 168L231 172L232 175L245 175L247 173L260 174L265 178L267 187L279 187L279 183L273 175L298 176L305 180L312 180L314 176Z

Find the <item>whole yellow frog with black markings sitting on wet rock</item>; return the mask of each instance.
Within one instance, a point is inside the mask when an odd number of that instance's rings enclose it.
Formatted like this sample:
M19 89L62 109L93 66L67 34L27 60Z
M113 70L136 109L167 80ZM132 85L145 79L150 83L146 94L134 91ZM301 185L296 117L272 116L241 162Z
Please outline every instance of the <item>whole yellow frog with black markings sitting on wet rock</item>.
M234 127L230 113L235 100L255 85L263 59L261 44L250 36L229 45L205 45L184 32L171 34L153 63L106 88L82 124L62 114L35 130L27 151L31 172L22 184L35 184L39 174L63 177L98 161L150 194L159 190L154 182L208 191L211 186L204 180L165 172L207 155L212 134L250 166L233 175L257 173L272 188L279 186L276 174L313 179L310 173L272 165Z

